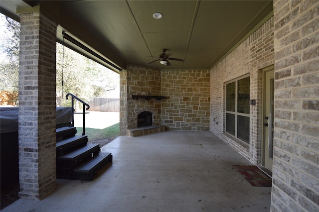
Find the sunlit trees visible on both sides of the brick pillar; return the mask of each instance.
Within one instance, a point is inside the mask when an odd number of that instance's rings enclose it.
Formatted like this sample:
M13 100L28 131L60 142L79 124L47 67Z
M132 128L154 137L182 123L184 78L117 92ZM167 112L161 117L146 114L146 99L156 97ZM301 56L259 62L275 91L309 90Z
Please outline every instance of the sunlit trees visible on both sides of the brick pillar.
M0 62L0 90L17 92L20 24L4 15L0 18L6 27L5 35L0 38L1 55L5 55ZM56 72L58 106L71 105L71 101L65 99L67 93L89 102L92 97L104 97L119 86L119 74L59 43L56 46Z

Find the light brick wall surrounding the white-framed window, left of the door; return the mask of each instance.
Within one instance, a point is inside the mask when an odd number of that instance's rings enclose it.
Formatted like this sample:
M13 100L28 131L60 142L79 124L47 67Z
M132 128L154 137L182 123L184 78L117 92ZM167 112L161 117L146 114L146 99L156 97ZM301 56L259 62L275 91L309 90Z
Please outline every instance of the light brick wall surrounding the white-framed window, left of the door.
M261 69L274 64L273 17L250 35L210 71L210 131L252 163L261 163L262 75ZM227 135L225 131L225 83L250 74L250 143Z

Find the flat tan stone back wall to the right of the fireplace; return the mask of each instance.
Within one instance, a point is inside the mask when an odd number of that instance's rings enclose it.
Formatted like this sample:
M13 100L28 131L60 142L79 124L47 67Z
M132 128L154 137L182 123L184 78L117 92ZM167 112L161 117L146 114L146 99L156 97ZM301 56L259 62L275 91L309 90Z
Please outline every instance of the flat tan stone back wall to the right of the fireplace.
M169 130L209 130L207 70L161 71L161 124Z

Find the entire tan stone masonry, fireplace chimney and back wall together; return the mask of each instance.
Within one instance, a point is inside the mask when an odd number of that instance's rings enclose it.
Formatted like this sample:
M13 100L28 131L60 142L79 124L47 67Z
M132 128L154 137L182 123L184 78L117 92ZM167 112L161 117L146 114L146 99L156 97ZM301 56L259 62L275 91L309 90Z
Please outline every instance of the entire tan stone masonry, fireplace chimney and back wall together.
M208 70L159 71L130 66L120 73L120 134L137 127L137 114L153 113L153 125L168 130L209 130ZM132 95L164 96L133 100Z

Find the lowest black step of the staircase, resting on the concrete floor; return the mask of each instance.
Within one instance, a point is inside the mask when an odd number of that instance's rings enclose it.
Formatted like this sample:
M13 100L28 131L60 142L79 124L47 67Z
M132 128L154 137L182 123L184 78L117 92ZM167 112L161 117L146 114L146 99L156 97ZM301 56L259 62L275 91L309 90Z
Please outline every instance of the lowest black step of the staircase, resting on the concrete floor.
M92 180L94 173L107 162L112 162L112 154L100 152L96 157L92 158L84 165L74 169L74 179Z

